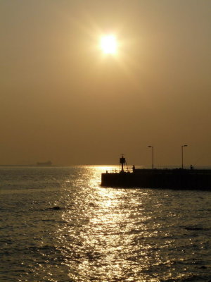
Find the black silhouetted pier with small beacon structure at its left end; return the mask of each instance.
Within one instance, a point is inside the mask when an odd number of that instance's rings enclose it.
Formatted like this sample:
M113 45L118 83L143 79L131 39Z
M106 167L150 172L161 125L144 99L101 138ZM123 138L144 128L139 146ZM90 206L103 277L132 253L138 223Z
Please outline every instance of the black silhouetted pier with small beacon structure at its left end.
M120 172L101 174L101 185L124 188L163 188L178 190L210 190L211 170L184 168L151 168L125 170L126 161L120 158Z

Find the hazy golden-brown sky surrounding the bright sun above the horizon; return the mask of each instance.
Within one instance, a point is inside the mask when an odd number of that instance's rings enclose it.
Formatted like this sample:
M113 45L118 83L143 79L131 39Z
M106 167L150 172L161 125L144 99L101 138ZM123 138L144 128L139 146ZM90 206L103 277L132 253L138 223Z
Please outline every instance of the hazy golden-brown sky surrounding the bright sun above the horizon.
M0 38L0 164L211 164L210 0L0 0Z

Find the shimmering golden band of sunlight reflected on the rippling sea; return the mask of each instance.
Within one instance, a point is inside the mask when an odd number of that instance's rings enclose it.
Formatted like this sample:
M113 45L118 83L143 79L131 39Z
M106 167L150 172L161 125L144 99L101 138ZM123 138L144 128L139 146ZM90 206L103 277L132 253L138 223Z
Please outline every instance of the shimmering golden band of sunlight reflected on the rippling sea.
M158 268L170 278L172 260L165 250L174 240L155 220L160 202L152 203L146 190L102 188L104 169L84 171L87 182L67 200L65 225L56 234L71 281L154 282L160 281Z

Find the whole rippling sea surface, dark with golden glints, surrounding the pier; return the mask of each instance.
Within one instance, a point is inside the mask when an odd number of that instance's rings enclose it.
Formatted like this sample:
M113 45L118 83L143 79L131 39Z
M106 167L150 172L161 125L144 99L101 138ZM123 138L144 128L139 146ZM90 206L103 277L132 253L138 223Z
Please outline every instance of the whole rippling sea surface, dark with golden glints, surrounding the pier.
M210 281L211 193L101 188L102 171L0 168L0 281Z

